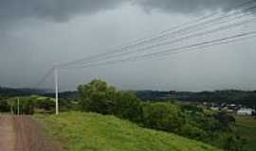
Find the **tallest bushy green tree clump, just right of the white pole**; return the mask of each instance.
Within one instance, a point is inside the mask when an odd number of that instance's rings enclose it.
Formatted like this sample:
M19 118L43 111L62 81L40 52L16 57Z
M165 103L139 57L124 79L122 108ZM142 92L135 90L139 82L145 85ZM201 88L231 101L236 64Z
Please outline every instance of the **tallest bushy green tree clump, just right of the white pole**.
M78 87L80 104L83 110L114 114L119 118L140 122L142 108L137 96L131 92L117 91L105 81L92 80Z

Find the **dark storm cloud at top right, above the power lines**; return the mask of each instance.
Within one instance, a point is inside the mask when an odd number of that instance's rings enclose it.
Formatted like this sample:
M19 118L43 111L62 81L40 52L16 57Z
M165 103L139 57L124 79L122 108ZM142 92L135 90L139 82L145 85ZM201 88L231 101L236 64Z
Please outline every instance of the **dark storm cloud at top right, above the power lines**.
M160 9L167 12L192 14L209 10L228 10L246 2L249 0L139 0L137 3L146 10Z

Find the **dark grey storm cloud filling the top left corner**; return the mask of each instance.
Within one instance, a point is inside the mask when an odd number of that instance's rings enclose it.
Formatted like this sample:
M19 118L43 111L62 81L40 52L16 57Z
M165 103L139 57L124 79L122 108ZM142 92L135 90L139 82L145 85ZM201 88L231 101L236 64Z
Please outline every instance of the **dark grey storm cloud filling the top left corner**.
M79 13L94 13L116 8L121 0L0 0L0 20L44 18L64 22Z

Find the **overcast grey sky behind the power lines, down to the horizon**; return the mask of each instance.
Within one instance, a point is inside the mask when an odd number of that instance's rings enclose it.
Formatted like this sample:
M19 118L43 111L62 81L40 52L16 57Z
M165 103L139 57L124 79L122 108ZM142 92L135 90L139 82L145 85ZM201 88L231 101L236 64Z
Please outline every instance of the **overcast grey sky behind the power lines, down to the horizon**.
M245 0L0 0L0 85L32 87L54 64L111 51ZM256 5L256 4L255 4ZM229 12L227 12L229 10ZM247 12L241 12L247 13ZM231 21L230 21L231 22ZM256 30L242 25L189 42ZM122 90L256 90L256 39L164 58L60 71L61 91L101 78ZM53 88L49 76L42 88Z

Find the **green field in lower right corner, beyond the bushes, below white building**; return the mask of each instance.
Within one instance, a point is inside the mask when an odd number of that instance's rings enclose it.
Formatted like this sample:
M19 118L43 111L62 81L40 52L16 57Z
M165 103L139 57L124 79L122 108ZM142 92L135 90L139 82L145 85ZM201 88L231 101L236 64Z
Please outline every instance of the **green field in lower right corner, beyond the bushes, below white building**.
M247 151L256 150L256 119L251 116L236 116L238 133L247 139L245 149Z

